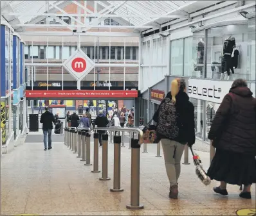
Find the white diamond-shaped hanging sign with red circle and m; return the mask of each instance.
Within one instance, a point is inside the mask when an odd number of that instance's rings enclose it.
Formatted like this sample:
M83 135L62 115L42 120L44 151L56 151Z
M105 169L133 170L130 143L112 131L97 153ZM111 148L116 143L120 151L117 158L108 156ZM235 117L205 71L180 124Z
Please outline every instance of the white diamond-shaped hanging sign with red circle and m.
M65 69L77 80L83 79L95 63L80 49L77 49L64 63Z

